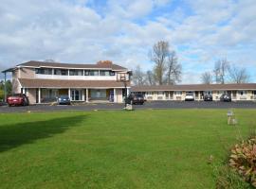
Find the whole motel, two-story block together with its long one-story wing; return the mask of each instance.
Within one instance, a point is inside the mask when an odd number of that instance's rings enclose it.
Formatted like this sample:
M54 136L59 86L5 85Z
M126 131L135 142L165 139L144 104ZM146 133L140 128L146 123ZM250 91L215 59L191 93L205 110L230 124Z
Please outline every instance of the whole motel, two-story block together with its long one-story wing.
M12 73L12 93L27 94L31 104L56 101L68 95L71 101L123 102L128 94L144 94L147 100L185 100L187 93L195 100L211 94L219 100L230 94L233 101L256 100L256 83L245 84L188 84L130 87L131 72L112 61L96 64L73 64L46 61L27 61L3 71ZM126 82L120 82L121 79ZM125 86L126 85L126 86Z

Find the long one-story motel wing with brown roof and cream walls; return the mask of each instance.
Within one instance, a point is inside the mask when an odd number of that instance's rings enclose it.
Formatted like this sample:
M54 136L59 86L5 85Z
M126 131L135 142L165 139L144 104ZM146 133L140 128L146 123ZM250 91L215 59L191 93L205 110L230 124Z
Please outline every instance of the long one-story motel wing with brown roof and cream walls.
M133 86L131 92L143 94L148 101L183 101L186 94L193 94L198 101L204 100L205 94L211 94L213 101L220 100L222 94L229 94L232 101L252 101L256 100L256 83Z

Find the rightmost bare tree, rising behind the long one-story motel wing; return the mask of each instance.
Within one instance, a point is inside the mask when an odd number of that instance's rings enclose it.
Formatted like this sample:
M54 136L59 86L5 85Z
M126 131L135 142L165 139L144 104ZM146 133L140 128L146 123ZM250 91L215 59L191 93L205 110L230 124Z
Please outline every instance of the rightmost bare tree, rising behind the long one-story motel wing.
M247 83L249 75L246 68L236 66L229 67L229 77L233 83Z

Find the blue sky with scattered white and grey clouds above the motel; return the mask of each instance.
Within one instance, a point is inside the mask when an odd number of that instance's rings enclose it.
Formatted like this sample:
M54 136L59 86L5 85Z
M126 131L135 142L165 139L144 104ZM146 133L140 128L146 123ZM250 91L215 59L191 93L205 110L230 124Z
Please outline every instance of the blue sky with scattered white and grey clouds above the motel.
M214 61L245 66L256 82L255 0L1 0L0 70L27 60L113 60L152 69L152 45L168 41L182 83Z

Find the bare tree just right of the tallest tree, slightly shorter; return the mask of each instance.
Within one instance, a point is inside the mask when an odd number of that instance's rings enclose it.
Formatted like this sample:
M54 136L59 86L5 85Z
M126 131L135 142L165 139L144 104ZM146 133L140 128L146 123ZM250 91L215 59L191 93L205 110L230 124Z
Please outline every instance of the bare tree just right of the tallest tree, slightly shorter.
M175 51L172 51L167 60L167 84L175 84L181 80L181 64L177 61Z

